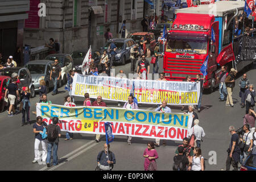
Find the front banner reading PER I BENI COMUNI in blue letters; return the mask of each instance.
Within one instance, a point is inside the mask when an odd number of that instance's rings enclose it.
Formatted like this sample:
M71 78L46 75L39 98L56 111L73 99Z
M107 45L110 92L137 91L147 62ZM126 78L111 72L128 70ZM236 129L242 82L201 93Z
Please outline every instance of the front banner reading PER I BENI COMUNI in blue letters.
M114 107L67 107L37 104L36 114L48 125L59 118L61 131L105 135L105 122L113 124L113 135L182 140L192 125L189 114L160 113L151 110L128 110Z

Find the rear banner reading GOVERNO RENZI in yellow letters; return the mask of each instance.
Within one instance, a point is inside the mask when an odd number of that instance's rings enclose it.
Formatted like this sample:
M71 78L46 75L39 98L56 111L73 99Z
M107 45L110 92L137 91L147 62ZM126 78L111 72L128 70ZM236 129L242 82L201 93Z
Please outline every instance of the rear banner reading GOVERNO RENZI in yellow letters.
M75 74L72 96L90 98L101 96L103 100L126 102L131 93L141 104L197 105L200 82L129 80L108 76L84 76Z

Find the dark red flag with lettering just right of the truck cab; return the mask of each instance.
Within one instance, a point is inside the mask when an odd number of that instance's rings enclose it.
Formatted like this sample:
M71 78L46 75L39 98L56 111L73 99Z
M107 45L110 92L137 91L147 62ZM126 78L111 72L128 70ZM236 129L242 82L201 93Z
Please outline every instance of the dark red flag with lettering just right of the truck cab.
M222 65L225 65L226 63L229 63L230 61L233 61L234 59L235 58L234 58L232 44L229 44L229 46L222 49L216 61L218 64L222 66Z

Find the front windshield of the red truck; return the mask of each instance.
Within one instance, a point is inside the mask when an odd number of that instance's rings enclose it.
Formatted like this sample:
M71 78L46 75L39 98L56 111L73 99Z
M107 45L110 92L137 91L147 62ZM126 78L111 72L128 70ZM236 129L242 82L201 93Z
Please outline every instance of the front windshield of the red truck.
M169 38L166 52L206 54L207 40Z

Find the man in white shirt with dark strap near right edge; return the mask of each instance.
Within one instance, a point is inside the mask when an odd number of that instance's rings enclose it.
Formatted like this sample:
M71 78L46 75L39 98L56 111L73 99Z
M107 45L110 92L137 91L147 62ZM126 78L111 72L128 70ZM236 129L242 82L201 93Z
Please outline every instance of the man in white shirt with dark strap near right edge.
M240 138L240 140L241 142L245 143L245 147L240 155L241 164L243 163L243 159L246 159L247 155L251 151L251 148L253 147L253 134L250 132L250 125L243 125L243 131L245 131L245 134L243 134L243 137Z

